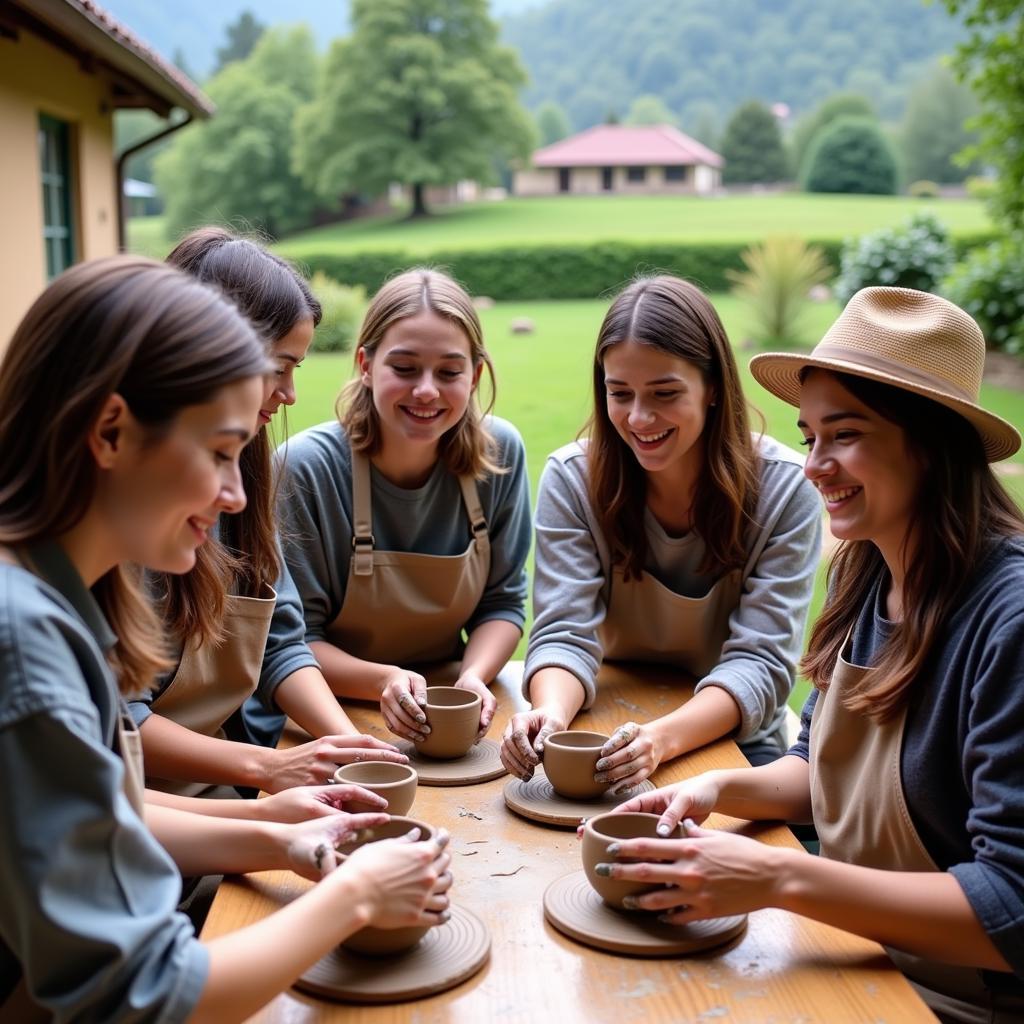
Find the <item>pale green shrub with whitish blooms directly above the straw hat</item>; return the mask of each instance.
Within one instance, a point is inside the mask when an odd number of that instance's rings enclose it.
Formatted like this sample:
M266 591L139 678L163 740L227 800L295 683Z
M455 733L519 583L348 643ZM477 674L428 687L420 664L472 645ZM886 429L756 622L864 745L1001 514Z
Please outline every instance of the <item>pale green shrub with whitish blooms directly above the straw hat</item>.
M930 213L916 213L902 227L885 227L843 246L836 297L849 302L868 285L931 292L953 264L945 227Z

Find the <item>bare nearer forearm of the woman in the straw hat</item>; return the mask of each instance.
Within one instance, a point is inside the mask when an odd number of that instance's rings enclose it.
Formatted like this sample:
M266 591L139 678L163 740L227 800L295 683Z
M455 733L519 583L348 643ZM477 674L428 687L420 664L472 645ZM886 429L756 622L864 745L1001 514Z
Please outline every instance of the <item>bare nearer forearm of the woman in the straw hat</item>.
M783 909L929 959L1011 970L951 874L884 871L796 850L777 853L777 905Z

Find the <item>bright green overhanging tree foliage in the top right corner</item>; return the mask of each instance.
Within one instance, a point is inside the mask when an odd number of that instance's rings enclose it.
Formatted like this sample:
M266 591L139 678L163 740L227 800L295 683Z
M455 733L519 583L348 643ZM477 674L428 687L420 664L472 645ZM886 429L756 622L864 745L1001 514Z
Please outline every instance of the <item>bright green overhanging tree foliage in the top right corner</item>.
M981 103L975 120L979 139L969 151L998 172L992 212L1009 227L1024 228L1024 7L1016 0L945 0L963 13L970 30L956 49L953 68Z

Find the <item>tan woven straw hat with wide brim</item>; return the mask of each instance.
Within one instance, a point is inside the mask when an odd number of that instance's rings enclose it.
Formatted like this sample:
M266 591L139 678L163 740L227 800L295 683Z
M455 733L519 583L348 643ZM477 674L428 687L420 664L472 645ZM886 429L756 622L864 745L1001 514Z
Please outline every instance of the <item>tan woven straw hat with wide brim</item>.
M985 366L981 328L959 306L909 288L862 288L809 354L765 352L751 360L762 387L800 406L800 373L821 367L932 398L970 420L989 462L1012 456L1021 435L978 404Z

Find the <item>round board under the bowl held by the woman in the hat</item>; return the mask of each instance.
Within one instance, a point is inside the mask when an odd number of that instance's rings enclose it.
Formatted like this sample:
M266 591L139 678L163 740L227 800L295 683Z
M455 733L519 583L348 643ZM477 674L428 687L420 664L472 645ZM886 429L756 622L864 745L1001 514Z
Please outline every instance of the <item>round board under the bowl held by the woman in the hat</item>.
M653 913L613 910L583 871L556 879L544 893L544 915L577 942L631 956L682 956L724 945L746 928L746 914L666 925Z

